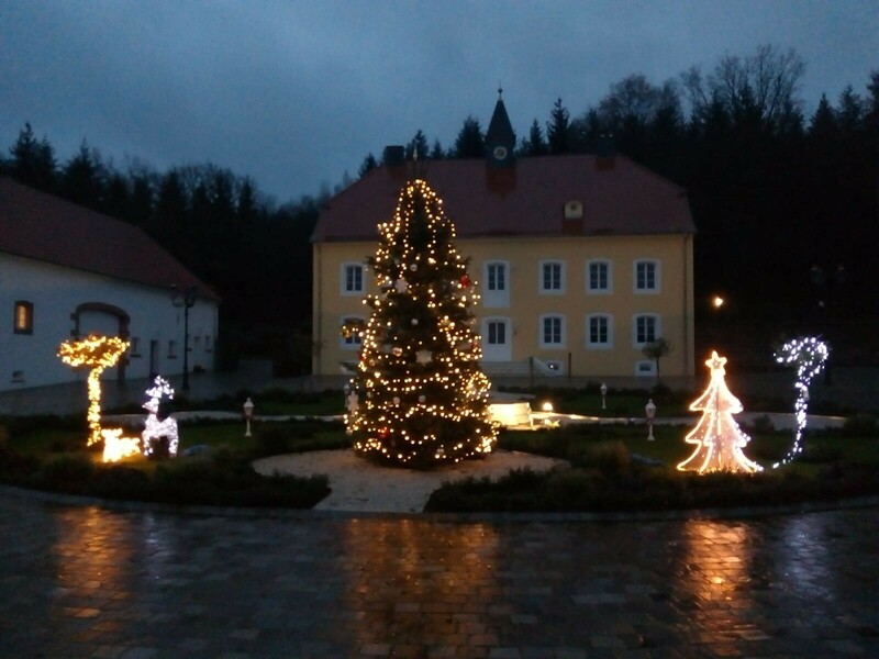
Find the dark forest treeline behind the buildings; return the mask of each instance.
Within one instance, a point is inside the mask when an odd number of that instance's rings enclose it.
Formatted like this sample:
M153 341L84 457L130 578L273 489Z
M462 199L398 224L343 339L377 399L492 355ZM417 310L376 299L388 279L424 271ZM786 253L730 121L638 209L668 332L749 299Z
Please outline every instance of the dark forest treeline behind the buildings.
M617 153L685 188L699 232L698 313L721 292L738 313L761 317L805 316L831 298L841 317L872 316L879 69L863 89L811 99L808 114L804 71L794 51L760 46L658 83L631 75L575 113L557 99L520 136L518 156L594 153L612 137ZM508 112L515 120L514 103ZM448 148L421 130L400 143L420 159L482 157L485 132L468 116ZM359 176L378 165L368 154ZM0 157L0 174L143 227L223 298L232 351L270 350L287 356L288 370L308 368L309 236L327 191L278 204L213 164L119 167L85 142L59 161L30 124Z

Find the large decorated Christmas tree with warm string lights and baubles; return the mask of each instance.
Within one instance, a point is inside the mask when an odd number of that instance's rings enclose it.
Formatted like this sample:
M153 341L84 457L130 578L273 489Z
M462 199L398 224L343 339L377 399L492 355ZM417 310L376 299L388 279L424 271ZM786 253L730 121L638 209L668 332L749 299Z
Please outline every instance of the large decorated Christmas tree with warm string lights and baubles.
M380 292L364 300L366 323L343 327L363 342L345 415L354 449L416 469L483 457L497 427L472 330L478 294L455 248L455 226L427 183L413 180L378 228L369 267Z

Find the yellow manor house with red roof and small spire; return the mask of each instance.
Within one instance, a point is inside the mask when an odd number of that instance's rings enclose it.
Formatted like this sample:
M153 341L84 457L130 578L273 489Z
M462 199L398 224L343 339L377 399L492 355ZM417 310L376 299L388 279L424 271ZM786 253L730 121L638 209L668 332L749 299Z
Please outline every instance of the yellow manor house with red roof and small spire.
M643 348L671 345L663 377L693 376L693 225L687 193L628 158L515 159L499 100L485 159L413 165L388 147L381 167L330 200L312 235L313 371L345 372L377 292L366 259L413 170L443 200L457 249L470 258L482 368L490 377L655 377Z

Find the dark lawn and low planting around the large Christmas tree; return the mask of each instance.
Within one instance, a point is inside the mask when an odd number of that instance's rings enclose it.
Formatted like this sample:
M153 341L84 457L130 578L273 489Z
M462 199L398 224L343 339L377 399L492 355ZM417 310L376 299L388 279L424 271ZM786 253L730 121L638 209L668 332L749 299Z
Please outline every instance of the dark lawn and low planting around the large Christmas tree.
M236 396L238 400L241 396ZM291 415L341 412L338 392L262 393L258 413ZM535 392L534 407L550 400L557 412L589 416L643 417L644 392L614 392L601 409L589 390ZM689 395L657 392L660 416L691 417ZM232 399L209 407L234 409ZM693 450L683 442L690 426L657 425L655 442L643 424L578 424L537 431L503 431L499 447L568 460L570 469L550 474L512 473L498 482L472 479L446 485L429 504L445 511L644 510L705 505L744 505L832 499L879 493L879 432L876 420L853 417L846 428L810 432L805 451L793 463L774 470L792 443L792 433L748 428L744 453L765 467L761 474L699 477L676 465ZM134 434L134 432L129 433ZM137 456L113 466L100 462L100 450L86 450L84 417L0 420L0 479L4 482L111 498L310 507L329 492L321 479L266 480L251 468L267 455L345 448L351 445L341 422L320 420L255 421L253 436L244 424L194 422L180 425L180 456L155 460ZM183 457L187 450L196 455ZM200 449L200 450L198 450ZM392 477L392 473L389 472Z

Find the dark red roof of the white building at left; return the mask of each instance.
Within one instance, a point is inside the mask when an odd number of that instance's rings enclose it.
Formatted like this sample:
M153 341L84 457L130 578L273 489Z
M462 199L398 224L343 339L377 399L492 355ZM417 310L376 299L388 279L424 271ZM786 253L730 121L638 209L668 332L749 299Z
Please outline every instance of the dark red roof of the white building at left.
M0 252L160 289L219 295L141 228L0 178Z

